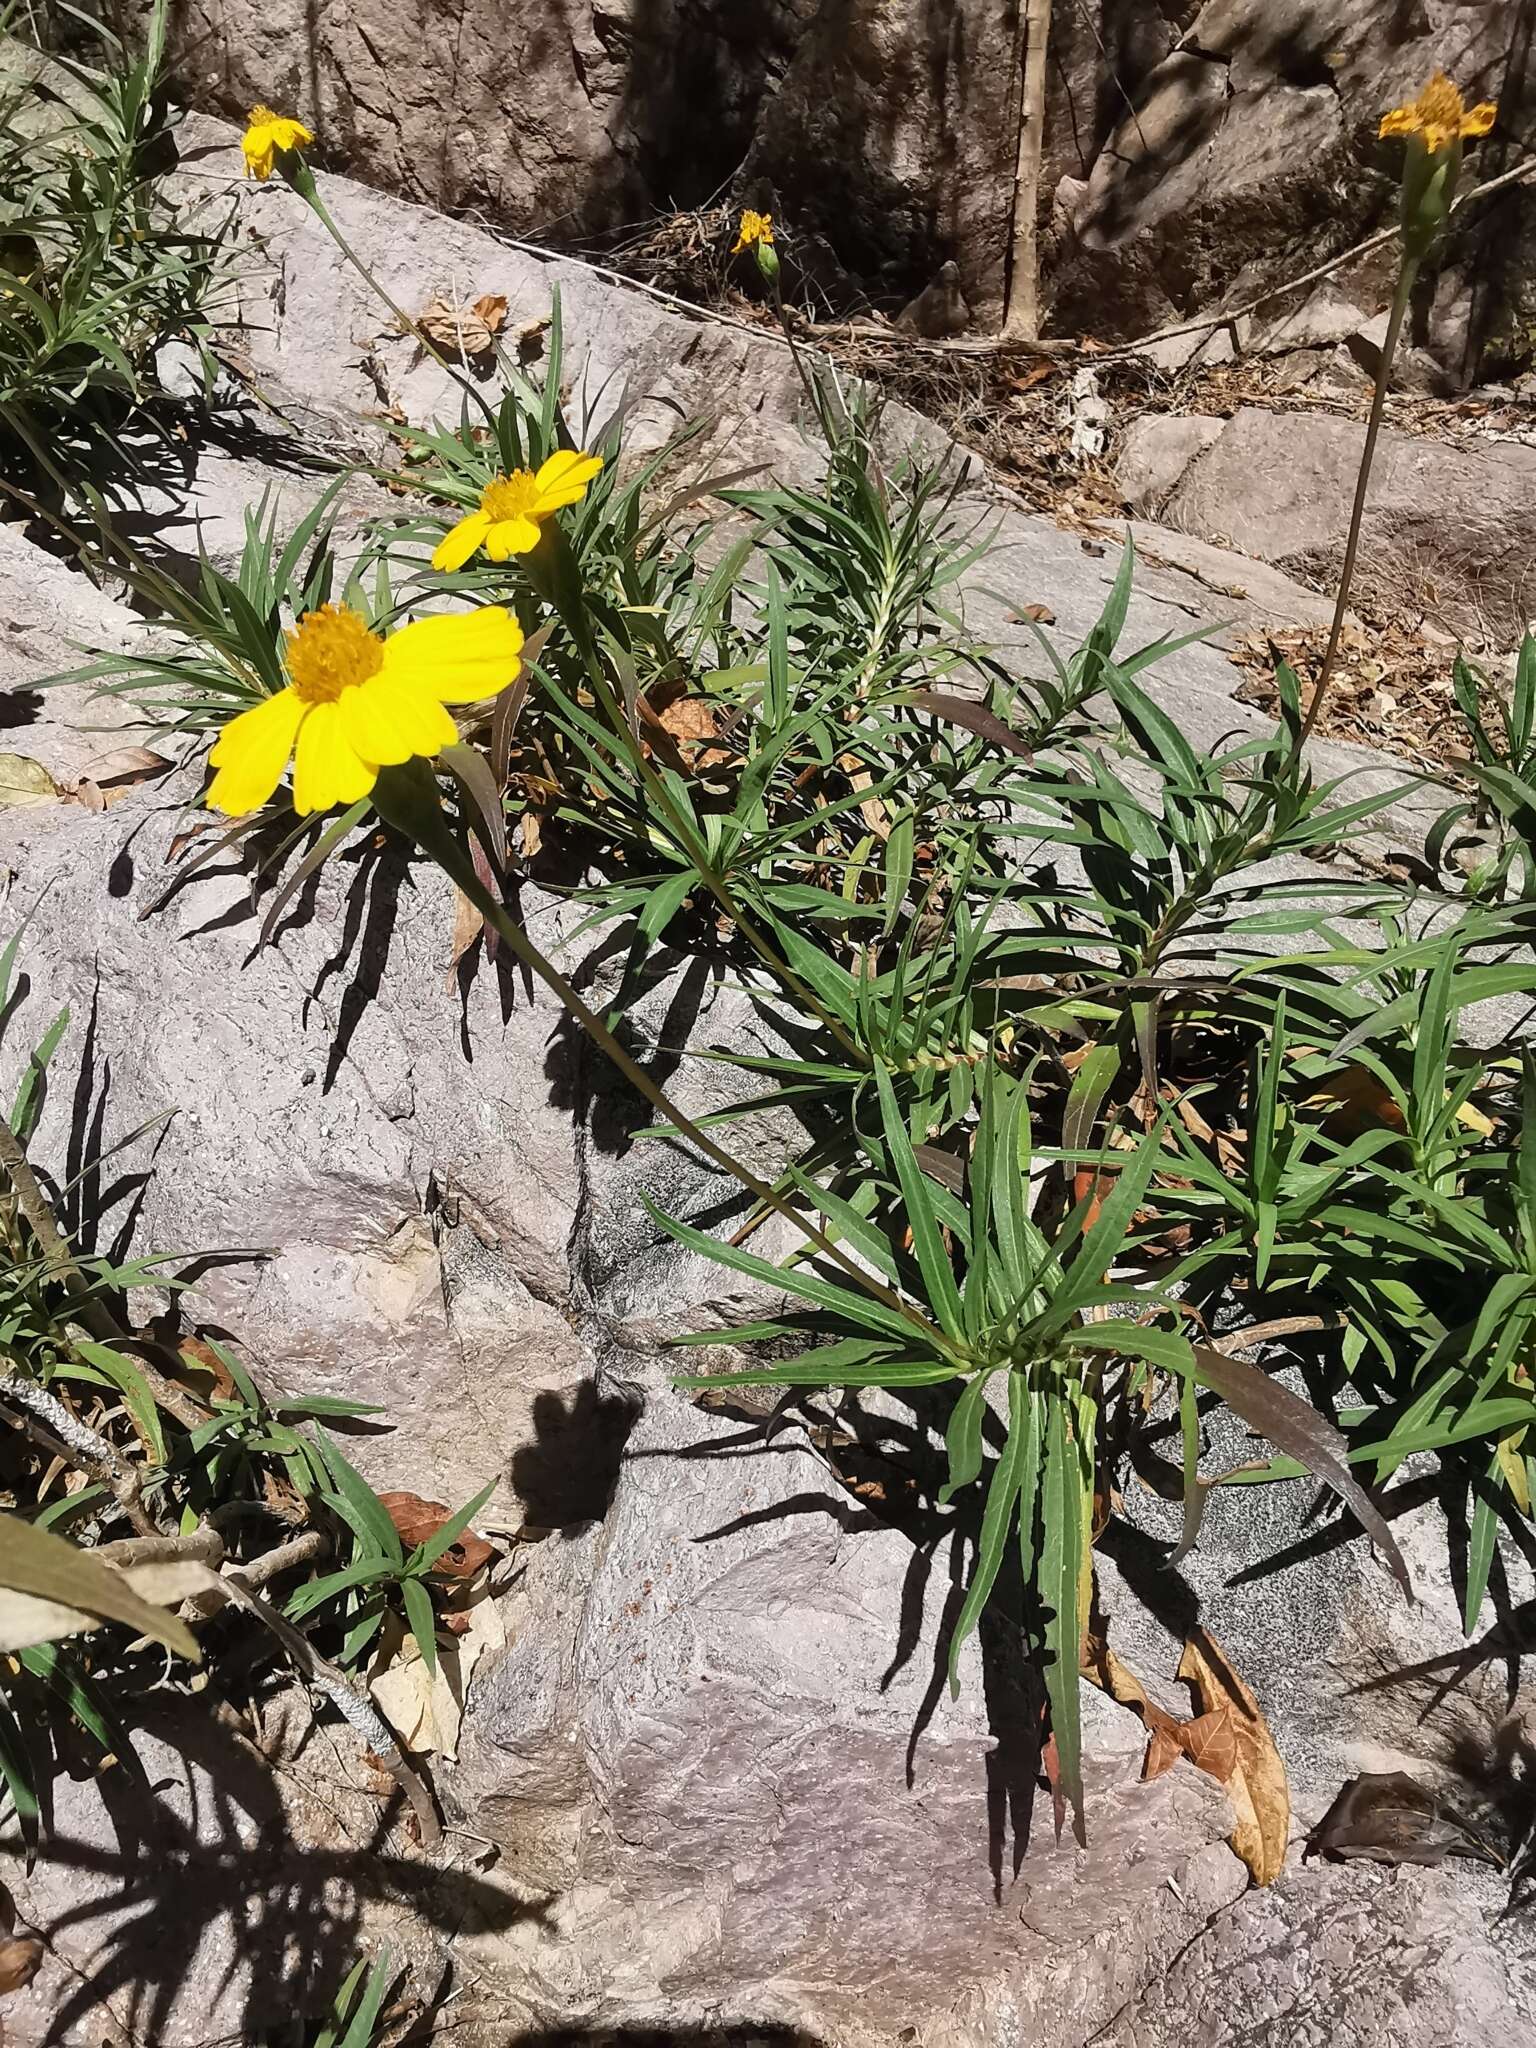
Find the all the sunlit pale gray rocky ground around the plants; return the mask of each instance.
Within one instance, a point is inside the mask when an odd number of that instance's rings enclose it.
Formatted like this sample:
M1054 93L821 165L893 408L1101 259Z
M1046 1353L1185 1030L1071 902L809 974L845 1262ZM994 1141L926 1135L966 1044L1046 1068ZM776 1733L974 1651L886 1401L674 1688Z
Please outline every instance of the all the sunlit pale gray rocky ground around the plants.
M186 176L223 190L227 131L199 123L193 139ZM535 330L559 289L578 391L598 416L635 399L637 438L676 410L709 412L729 467L813 467L774 334L344 180L326 193L410 307L500 293ZM188 412L162 496L129 506L182 571L199 547L229 559L262 492L297 518L315 453L375 457L399 416L457 410L291 193L246 190L242 217L240 393ZM1071 436L1083 387L1075 369L1053 379ZM1251 399L1229 418L1182 401L1116 424L1083 455L1094 502L1065 524L973 459L958 516L995 547L967 592L971 625L1020 668L1042 659L1030 616L1049 614L1065 647L1085 633L1114 573L1118 518L1094 496L1114 463L1143 557L1128 639L1212 629L1153 672L1161 702L1194 741L1257 729L1233 655L1327 616L1354 428ZM915 414L891 430L940 438ZM1454 549L1477 549L1497 567L1497 592L1477 598L1497 659L1532 557L1536 451L1405 430L1389 457L1374 516L1403 532L1415 506L1440 512L1423 539L1440 547L1436 600L1415 629L1458 631L1473 594ZM1456 489L1485 524L1452 543ZM352 530L377 502L354 489ZM92 784L102 754L143 735L82 731L100 702L33 684L74 645L127 645L141 625L16 528L0 532L0 582L8 745L66 786ZM1397 829L1413 829L1397 754L1339 739L1317 754L1360 784L1403 786ZM375 1483L463 1499L498 1479L485 1526L508 1538L506 1649L461 1702L457 1757L438 1757L449 1829L434 1858L387 1812L360 1743L301 1698L244 1729L190 1702L150 1739L154 1810L111 1780L66 1782L59 1847L6 1876L49 1942L6 2005L6 2040L252 2040L377 1935L410 1962L422 2005L446 2001L442 2038L465 2044L657 2030L827 2048L1481 2048L1530 2032L1536 1931L1499 1917L1495 1874L1303 1862L1360 1769L1450 1782L1477 1767L1487 1800L1530 1796L1518 1655L1497 1628L1466 1653L1434 1507L1403 1524L1421 1595L1405 1608L1300 1489L1221 1495L1176 1573L1137 1540L1165 1534L1167 1503L1128 1503L1102 1575L1120 1655L1153 1694L1182 1698L1190 1622L1227 1647L1286 1763L1290 1855L1249 1890L1214 1780L1178 1763L1143 1784L1141 1720L1092 1688L1090 1849L1057 1845L1024 1761L1026 1673L1006 1618L950 1704L934 1645L956 1561L829 1454L842 1434L891 1470L913 1417L844 1409L768 1434L750 1411L670 1391L659 1337L739 1305L717 1270L659 1241L637 1192L707 1217L719 1186L614 1137L602 1071L541 995L485 967L449 975L434 874L362 846L266 948L236 856L166 899L195 788L172 766L104 807L0 813L6 926L27 926L35 989L25 1020L68 1001L78 1026L39 1153L61 1169L82 1128L176 1106L133 1241L270 1247L211 1266L190 1313L276 1384L383 1403L393 1427L352 1446ZM532 887L522 915L547 946L569 930ZM657 1040L680 1001L674 981L645 1012ZM698 1038L745 1030L729 991L694 1020ZM8 1081L25 1042L16 1030L0 1049ZM709 1104L709 1073L680 1067L684 1104ZM1436 1681L1462 1661L1452 1710Z

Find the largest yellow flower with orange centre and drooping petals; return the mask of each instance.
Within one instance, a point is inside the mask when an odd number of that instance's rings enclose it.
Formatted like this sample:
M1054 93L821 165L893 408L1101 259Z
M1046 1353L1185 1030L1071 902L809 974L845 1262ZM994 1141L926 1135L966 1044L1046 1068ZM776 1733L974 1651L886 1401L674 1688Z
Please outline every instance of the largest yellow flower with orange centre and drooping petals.
M287 688L219 733L207 803L258 811L293 760L293 809L367 797L379 770L459 737L444 705L496 696L522 668L522 627L500 604L416 618L387 639L346 604L305 612L287 635Z

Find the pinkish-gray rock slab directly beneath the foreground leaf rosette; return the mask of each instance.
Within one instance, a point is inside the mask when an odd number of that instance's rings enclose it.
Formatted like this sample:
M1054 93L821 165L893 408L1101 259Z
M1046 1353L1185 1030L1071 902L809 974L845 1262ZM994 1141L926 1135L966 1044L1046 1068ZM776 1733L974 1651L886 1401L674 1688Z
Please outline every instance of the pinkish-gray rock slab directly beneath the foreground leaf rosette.
M1006 1626L942 1700L944 1548L860 1511L801 1425L764 1448L623 1354L600 1386L649 1405L606 1522L530 1556L453 1790L559 1892L547 1937L469 1946L510 2001L1083 2042L1235 1896L1214 1784L1139 1786L1139 1724L1096 1694L1090 1851L1053 1845Z

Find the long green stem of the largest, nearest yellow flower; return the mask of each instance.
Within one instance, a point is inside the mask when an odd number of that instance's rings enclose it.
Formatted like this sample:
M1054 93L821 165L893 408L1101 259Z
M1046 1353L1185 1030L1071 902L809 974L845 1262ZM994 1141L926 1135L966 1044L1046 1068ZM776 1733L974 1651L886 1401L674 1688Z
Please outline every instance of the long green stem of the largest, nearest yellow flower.
M602 1018L582 1001L565 975L561 975L561 971L543 956L522 926L508 913L506 905L498 903L498 899L483 885L475 872L473 860L465 856L442 817L436 780L424 762L412 760L401 768L385 768L373 786L373 805L385 823L393 825L395 831L406 834L406 838L412 840L428 856L428 860L434 860L442 872L459 889L463 889L481 918L496 930L498 938L506 940L518 961L539 975L545 987L569 1010L588 1038L592 1038L592 1042L608 1055L629 1085L645 1096L653 1110L659 1110L670 1124L676 1124L690 1145L694 1145L715 1165L723 1167L733 1180L741 1182L750 1194L754 1194L768 1208L774 1208L780 1217L786 1217L795 1229L817 1247L817 1251L834 1260L866 1294L905 1317L926 1343L938 1348L944 1356L954 1358L956 1372L965 1370L969 1362L956 1358L954 1346L928 1321L928 1317L913 1309L911 1303L903 1300L901 1294L889 1288L874 1274L866 1272L854 1257L850 1257L850 1253L842 1249L842 1245L834 1243L825 1231L797 1210L793 1202L770 1188L766 1180L758 1180L752 1167L741 1165L739 1159L717 1145L715 1139L711 1139L707 1130L700 1130L698 1124L655 1085L649 1073L635 1059L631 1059Z

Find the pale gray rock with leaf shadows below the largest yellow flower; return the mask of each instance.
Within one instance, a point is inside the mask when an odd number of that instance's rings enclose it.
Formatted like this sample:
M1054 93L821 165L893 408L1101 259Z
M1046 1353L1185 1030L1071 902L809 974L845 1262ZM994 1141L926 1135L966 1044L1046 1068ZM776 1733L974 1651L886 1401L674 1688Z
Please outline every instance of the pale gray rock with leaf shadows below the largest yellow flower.
M102 817L8 813L8 924L27 922L37 995L0 1047L6 1085L70 1004L39 1161L68 1180L82 1149L174 1110L133 1155L154 1167L137 1243L242 1253L203 1274L188 1313L236 1333L279 1386L379 1403L395 1434L356 1446L377 1483L463 1499L537 1395L582 1370L555 1012L520 985L504 997L483 965L467 991L451 981L446 883L367 846L328 864L254 956L233 858L152 911L193 795L162 782ZM522 909L559 942L565 913L532 891ZM444 1245L461 1245L446 1264Z

